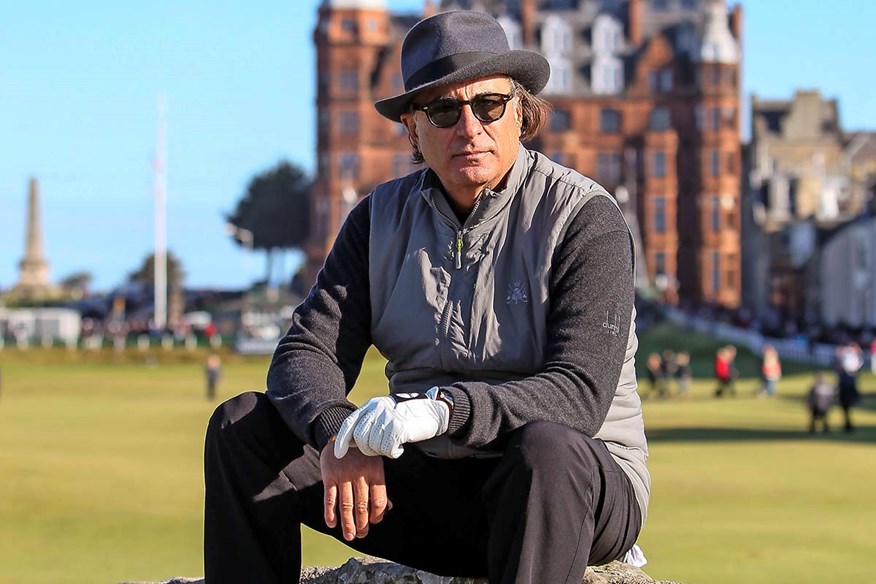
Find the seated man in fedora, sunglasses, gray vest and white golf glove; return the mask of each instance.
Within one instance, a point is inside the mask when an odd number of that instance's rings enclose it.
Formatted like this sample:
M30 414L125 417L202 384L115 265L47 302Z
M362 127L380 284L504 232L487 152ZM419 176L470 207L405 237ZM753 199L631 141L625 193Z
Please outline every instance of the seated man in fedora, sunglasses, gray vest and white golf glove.
M405 93L375 105L427 168L353 209L267 393L211 419L209 584L298 582L302 523L436 574L578 583L644 522L631 237L521 146L547 62L467 11L415 25L401 60ZM372 344L391 395L357 408Z

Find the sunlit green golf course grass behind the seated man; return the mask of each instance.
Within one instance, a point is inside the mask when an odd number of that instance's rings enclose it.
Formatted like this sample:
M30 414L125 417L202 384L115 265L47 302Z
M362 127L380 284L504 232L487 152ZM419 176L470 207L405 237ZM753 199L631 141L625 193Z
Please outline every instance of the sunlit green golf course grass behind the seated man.
M652 339L643 346L665 341ZM708 341L685 340L707 358ZM202 357L0 351L0 584L203 573L202 446L215 404ZM267 363L225 356L220 399L262 388ZM690 584L872 580L876 398L856 412L855 434L810 436L810 380L786 377L770 400L743 379L735 399L711 398L703 380L687 399L646 402L649 574ZM373 357L357 401L384 385ZM876 394L872 376L861 385ZM308 564L351 554L312 532L304 546Z

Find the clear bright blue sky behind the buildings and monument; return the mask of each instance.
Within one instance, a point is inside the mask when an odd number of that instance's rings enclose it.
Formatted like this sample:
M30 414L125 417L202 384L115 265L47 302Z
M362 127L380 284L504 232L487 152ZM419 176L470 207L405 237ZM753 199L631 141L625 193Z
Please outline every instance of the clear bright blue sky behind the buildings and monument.
M732 1L732 0L731 0ZM314 168L320 0L7 2L0 20L0 288L18 277L27 184L40 181L58 280L108 290L153 249L157 101L168 103L168 247L189 286L238 288L264 256L225 235L256 173ZM417 12L422 0L387 0ZM818 88L847 129L876 129L876 3L746 0L744 100ZM291 265L289 266L291 267Z

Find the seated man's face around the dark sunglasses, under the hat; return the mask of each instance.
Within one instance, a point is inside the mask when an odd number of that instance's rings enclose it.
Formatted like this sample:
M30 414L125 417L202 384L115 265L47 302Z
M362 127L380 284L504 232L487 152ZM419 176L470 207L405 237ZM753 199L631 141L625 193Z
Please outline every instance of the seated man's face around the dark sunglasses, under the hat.
M510 95L511 80L504 76L434 88L417 96L416 106L438 98L462 101L485 94ZM475 117L471 105L462 106L459 121L448 128L434 126L426 112L402 116L411 140L419 147L426 164L441 179L454 202L470 210L478 194L495 188L508 173L520 145L518 100L508 101L504 115L493 122Z

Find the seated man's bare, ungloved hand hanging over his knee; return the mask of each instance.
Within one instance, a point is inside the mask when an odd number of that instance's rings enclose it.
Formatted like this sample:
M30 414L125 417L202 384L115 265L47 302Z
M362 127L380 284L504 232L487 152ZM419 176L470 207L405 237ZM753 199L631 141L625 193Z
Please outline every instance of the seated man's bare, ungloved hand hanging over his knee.
M325 524L335 527L340 516L344 539L368 535L368 525L383 521L383 515L392 508L386 496L383 459L365 456L356 449L343 458L332 452L334 440L329 441L319 457L323 482L323 515Z

